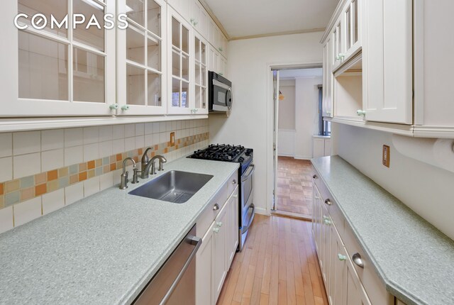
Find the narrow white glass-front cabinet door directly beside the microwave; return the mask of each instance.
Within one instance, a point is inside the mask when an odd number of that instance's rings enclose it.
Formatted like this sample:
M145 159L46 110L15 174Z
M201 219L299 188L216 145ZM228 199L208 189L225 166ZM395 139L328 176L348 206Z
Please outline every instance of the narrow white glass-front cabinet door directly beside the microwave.
M194 108L192 114L208 113L208 48L206 40L194 33Z

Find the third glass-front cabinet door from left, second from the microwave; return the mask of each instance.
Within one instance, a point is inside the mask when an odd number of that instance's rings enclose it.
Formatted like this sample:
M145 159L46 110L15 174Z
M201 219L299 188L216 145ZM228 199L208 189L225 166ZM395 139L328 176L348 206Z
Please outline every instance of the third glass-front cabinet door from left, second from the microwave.
M167 113L190 114L194 102L191 92L192 79L192 27L184 21L182 16L169 6L167 7L168 25L168 48L167 52L171 58L167 61L168 82L172 90L169 91L169 103Z

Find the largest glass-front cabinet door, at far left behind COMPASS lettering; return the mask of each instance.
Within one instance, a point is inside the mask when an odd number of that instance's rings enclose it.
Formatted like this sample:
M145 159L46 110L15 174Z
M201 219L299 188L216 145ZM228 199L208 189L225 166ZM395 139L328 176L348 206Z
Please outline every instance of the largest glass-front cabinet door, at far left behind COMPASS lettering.
M11 0L2 9L0 117L115 114L115 29L104 19L115 0Z

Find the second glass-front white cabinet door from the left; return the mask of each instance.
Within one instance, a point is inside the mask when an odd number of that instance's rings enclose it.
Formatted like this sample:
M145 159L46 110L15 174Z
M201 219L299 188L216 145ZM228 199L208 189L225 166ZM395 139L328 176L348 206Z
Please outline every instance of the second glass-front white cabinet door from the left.
M117 30L118 115L167 113L163 0L118 0L128 28Z

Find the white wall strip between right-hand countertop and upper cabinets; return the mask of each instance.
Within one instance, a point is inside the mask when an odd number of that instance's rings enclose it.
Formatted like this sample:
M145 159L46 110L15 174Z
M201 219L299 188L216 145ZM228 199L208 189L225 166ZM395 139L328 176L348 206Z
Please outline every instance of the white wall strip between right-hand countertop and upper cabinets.
M453 172L402 155L390 133L333 126L338 155L454 239ZM390 147L389 168L382 165L383 145Z

